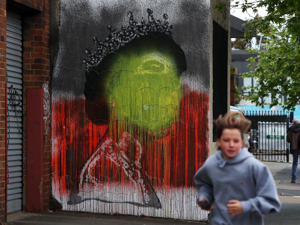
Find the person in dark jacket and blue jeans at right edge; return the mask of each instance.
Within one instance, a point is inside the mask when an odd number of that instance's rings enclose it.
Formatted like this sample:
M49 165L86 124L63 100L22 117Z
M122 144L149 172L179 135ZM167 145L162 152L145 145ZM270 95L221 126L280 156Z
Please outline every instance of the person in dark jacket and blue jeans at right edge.
M292 165L292 181L291 183L296 183L297 180L297 167L298 158L300 156L300 119L294 119L292 126L286 134L286 141L289 143L289 152L293 155L293 165Z

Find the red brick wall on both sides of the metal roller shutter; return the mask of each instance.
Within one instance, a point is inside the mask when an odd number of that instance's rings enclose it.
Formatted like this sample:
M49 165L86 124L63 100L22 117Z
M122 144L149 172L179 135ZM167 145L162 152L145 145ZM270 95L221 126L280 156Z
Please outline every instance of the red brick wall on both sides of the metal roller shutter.
M50 0L14 0L7 2L0 0L0 28L2 28L0 49L0 115L1 124L5 124L5 82L6 82L6 8L14 11L16 8L22 9L23 19L23 210L26 211L26 90L27 88L44 89L44 210L49 208L49 195L51 184L51 115L50 115L50 50L49 50L49 26L50 26ZM7 5L6 5L7 3ZM8 4L9 3L9 4ZM33 10L32 10L33 9ZM3 10L3 11L2 11ZM26 11L27 10L27 11ZM2 13L5 12L5 13ZM17 12L17 11L16 11ZM2 38L3 36L3 38ZM3 41L2 41L3 39ZM2 126L1 126L2 128ZM4 156L2 156L4 155ZM3 159L3 162L2 162ZM5 131L0 130L0 170L5 168ZM3 174L3 173L0 173ZM2 180L3 179L3 180ZM4 214L5 185L2 184L5 178L0 176L0 215ZM4 191L2 190L4 188Z

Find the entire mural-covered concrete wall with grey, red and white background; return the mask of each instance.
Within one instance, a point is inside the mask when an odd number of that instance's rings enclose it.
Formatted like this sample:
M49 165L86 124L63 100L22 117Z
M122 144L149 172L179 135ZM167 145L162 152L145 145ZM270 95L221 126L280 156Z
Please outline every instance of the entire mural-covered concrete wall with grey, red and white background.
M56 199L71 211L205 219L193 175L208 157L210 1L53 4ZM148 23L147 8L155 22L172 24L173 33L149 32L128 36L124 47L110 45L121 26L140 24L142 17ZM103 48L93 37L113 53L98 55ZM95 58L104 57L89 65L84 59L94 50Z

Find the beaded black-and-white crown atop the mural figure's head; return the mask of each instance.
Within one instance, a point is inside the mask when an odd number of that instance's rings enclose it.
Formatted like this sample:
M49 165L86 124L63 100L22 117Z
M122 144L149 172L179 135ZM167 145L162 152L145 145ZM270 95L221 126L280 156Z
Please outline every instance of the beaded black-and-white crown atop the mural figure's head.
M147 13L148 22L146 22L143 17L141 22L137 22L137 20L133 18L132 12L128 12L130 25L127 28L122 26L120 31L117 31L108 25L107 29L110 31L110 34L104 41L98 41L98 38L94 38L97 50L91 53L88 49L85 49L85 53L88 54L88 59L85 58L83 60L86 69L97 67L105 55L115 52L121 46L124 46L126 43L131 42L140 36L153 32L172 35L173 25L169 25L167 14L163 15L164 21L162 22L160 19L154 19L152 9L148 8Z

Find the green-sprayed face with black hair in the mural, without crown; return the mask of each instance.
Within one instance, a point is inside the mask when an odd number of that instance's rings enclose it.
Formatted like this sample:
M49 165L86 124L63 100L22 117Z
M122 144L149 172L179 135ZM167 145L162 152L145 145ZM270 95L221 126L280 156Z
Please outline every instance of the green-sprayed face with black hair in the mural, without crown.
M133 40L87 73L85 96L96 106L87 107L87 113L92 121L163 134L178 121L184 70L184 52L172 37L153 34Z

